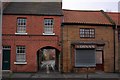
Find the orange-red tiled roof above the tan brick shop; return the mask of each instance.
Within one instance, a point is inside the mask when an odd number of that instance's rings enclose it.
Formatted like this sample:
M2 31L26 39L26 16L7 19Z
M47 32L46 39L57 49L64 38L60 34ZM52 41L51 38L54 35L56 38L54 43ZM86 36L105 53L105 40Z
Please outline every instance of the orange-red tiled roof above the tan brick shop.
M112 25L103 11L63 10L64 23Z

